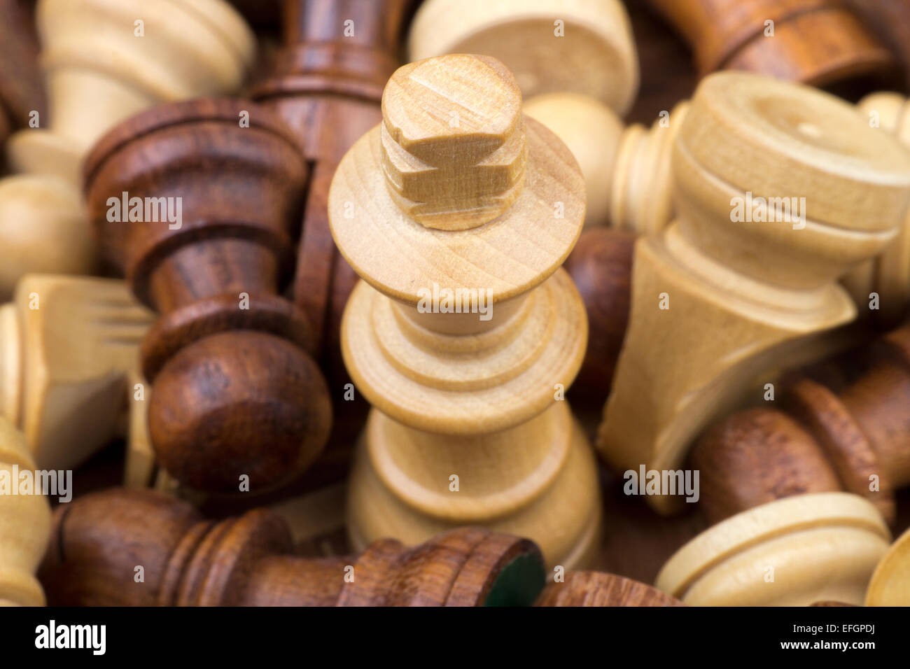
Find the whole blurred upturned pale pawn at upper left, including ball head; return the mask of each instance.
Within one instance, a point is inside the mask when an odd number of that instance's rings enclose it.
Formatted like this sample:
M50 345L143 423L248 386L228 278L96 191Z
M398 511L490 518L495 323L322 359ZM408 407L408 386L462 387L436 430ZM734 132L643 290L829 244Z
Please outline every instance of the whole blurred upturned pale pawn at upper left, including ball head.
M0 185L0 299L26 271L96 268L79 198L82 160L98 137L148 106L236 90L255 46L224 0L40 0L35 19L49 104L38 127L7 142L23 174Z

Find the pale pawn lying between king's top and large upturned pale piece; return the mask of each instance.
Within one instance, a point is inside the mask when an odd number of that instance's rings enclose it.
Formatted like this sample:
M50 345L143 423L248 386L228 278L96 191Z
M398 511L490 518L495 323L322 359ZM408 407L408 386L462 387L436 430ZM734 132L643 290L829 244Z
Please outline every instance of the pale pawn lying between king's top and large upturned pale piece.
M688 106L683 101L661 112L650 129L623 127L608 106L577 93L533 97L524 113L555 132L581 165L585 227L656 234L672 219L670 153Z

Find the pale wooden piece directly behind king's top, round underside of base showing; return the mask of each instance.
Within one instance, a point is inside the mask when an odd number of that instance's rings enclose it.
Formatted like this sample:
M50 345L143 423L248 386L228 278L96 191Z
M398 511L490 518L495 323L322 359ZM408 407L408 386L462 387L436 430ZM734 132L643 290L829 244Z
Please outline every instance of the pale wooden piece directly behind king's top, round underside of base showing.
M619 0L427 0L410 27L410 60L493 56L526 98L570 91L621 117L638 92L638 55Z

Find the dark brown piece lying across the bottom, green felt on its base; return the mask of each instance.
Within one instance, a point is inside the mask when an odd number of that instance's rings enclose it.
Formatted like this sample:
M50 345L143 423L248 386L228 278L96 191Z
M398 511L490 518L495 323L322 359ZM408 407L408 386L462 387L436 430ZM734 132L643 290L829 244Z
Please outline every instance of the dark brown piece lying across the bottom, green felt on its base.
M40 572L54 605L529 605L544 583L533 542L476 528L308 559L290 554L274 512L206 521L187 502L123 489L62 505L54 523Z

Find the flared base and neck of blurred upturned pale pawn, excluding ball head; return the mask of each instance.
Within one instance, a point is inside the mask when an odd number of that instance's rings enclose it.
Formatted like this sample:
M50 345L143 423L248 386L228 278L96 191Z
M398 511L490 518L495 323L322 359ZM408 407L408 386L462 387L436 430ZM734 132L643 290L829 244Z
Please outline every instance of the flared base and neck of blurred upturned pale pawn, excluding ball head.
M49 125L12 137L8 157L74 183L108 128L159 102L236 90L254 56L254 35L223 0L40 0L35 20Z

